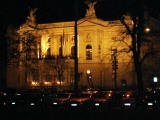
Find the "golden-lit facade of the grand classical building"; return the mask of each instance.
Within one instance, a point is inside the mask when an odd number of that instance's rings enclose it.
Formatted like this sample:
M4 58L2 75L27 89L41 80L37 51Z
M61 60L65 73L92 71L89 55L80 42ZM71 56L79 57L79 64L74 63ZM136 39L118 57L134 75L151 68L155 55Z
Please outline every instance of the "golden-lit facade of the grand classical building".
M129 17L126 17L128 24ZM34 23L34 19L32 20ZM125 37L125 43L120 39L125 28L120 20L104 21L96 17L94 3L89 4L86 16L78 20L78 62L79 62L79 86L114 88L113 54L115 51L128 49L131 39ZM26 86L66 86L72 87L74 82L74 21L56 22L46 24L23 24L17 31L19 39L34 39L36 45L32 60L19 63L19 67L9 68L10 75L8 85L13 87ZM20 43L20 51L24 49ZM63 59L60 57L63 56ZM129 87L136 84L131 53L117 52L117 87L122 82ZM24 59L26 61L24 61ZM64 64L65 63L65 64ZM58 70L59 69L59 70ZM90 70L90 81L87 79L87 71ZM9 78L10 79L10 78ZM14 80L13 80L14 79Z

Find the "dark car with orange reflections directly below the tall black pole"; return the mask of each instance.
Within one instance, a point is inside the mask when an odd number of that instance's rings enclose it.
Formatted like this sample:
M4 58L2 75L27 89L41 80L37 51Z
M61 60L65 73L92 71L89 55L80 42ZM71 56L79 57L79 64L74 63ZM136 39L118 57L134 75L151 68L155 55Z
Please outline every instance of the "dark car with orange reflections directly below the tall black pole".
M73 93L67 104L67 108L69 110L89 110L91 107L92 94L91 92Z

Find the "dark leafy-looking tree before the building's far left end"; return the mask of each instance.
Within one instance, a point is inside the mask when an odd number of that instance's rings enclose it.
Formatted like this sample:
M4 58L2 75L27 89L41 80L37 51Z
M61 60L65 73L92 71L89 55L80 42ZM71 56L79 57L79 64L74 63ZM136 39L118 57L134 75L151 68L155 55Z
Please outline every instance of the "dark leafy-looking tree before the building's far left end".
M37 56L37 45L35 36L29 32L25 32L20 36L15 28L8 28L8 67L14 66L18 69L18 81L20 82L20 66L25 68L25 81L27 82L27 72L32 69L32 62L35 62ZM35 63L36 64L36 63ZM19 87L21 87L19 85Z

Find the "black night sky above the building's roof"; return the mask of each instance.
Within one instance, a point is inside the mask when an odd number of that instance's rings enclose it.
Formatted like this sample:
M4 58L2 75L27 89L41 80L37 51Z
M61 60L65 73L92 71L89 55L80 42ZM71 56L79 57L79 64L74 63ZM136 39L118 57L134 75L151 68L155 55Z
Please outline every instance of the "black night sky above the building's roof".
M85 15L87 6L79 0L79 17ZM118 19L125 9L132 8L138 0L101 0L96 6L96 14L101 19ZM127 2L126 2L127 1ZM144 0L152 15L159 13L158 0ZM0 5L0 27L19 26L25 22L30 8L38 8L37 22L68 21L74 18L74 0L5 0Z

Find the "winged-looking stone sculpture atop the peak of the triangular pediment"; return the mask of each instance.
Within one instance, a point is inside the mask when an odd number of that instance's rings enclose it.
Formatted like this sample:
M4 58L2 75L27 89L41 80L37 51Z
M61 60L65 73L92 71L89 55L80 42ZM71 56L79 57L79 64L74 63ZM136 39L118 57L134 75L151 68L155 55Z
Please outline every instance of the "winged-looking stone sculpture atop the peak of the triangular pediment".
M96 16L95 14L95 9L94 9L94 5L96 4L96 1L91 2L91 1L86 1L86 4L88 5L88 9L86 12L86 16Z

